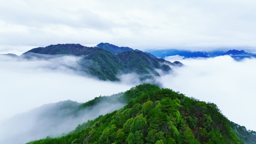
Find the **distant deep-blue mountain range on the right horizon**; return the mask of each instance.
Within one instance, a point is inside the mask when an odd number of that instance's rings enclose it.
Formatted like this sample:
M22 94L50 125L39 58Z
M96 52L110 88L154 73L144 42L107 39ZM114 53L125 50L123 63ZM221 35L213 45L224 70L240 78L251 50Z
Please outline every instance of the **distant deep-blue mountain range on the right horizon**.
M184 56L184 58L210 58L215 56L221 56L221 55L230 55L232 58L236 60L240 60L243 58L251 58L255 57L255 53L246 52L244 50L228 50L227 52L224 51L212 51L212 52L191 52L188 50L155 50L151 52L152 55L155 55L156 57L165 58L166 56Z

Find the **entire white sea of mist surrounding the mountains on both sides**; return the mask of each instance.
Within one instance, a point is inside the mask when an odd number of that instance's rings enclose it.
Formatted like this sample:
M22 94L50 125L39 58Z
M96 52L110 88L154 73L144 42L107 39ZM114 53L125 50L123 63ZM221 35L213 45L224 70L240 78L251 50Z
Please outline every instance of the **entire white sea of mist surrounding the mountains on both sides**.
M142 83L134 73L119 75L121 82L102 81L79 73L77 62L81 58L32 55L27 59L0 55L0 143L26 143L46 136L59 137L79 123L124 105L109 105L105 111L98 105L94 110L80 111L79 116L74 117L72 108L58 109L63 104L60 101L70 99L73 101L69 101L70 104L76 107L79 102L124 92ZM171 73L156 70L161 77L155 77L153 83L201 101L214 102L229 120L256 130L256 117L252 114L256 100L256 59L239 62L230 56L197 59L171 56L165 59L178 60L185 66L170 65ZM151 80L144 82L152 83Z

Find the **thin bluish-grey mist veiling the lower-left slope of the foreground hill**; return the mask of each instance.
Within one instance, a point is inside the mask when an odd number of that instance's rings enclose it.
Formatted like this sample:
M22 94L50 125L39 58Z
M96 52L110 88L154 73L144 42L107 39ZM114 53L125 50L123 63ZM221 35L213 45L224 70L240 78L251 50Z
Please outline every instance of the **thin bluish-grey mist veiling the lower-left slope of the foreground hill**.
M22 114L17 114L0 124L1 144L24 144L47 136L64 136L80 123L95 119L124 106L101 101L91 109L80 109L80 103L61 101L45 104Z

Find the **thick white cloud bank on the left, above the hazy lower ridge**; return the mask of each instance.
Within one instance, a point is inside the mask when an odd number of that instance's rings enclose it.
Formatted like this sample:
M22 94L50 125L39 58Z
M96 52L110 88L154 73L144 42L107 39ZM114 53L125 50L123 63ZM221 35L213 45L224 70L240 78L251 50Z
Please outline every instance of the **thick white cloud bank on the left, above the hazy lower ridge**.
M86 102L134 86L80 76L70 69L78 67L79 58L57 56L26 60L0 55L0 122L43 104L67 99Z

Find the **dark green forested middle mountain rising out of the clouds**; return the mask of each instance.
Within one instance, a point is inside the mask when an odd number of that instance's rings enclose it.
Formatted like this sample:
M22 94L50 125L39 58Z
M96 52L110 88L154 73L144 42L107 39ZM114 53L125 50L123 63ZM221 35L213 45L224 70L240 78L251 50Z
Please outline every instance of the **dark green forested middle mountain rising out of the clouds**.
M118 75L127 73L138 74L140 80L154 79L155 76L160 76L155 69L168 73L171 71L169 65L182 65L180 62L172 63L141 51L123 51L115 55L109 50L80 44L58 44L34 48L25 52L23 56L29 58L30 53L83 56L79 61L80 71L111 81L119 81Z

